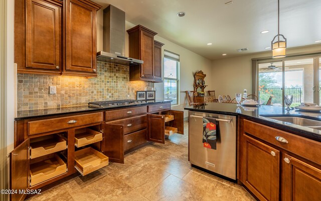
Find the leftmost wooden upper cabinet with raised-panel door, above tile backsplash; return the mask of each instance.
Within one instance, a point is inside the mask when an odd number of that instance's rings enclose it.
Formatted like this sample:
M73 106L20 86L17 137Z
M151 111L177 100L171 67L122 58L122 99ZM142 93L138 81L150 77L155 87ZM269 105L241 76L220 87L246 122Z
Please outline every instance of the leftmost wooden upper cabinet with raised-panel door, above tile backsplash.
M19 73L61 73L62 8L58 0L15 1L15 63Z

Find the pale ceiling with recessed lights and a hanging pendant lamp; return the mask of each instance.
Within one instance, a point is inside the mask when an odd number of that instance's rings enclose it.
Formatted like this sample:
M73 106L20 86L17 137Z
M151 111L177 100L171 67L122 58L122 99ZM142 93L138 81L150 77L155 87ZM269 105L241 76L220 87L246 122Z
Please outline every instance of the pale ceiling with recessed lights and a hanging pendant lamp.
M277 34L276 0L93 0L126 13L126 21L209 59L268 51ZM320 0L280 0L280 34L287 47L321 40ZM185 17L177 17L178 12ZM269 30L261 34L263 30ZM207 43L213 45L208 46ZM321 44L321 42L320 42ZM240 48L248 51L238 52ZM227 56L222 56L222 54Z

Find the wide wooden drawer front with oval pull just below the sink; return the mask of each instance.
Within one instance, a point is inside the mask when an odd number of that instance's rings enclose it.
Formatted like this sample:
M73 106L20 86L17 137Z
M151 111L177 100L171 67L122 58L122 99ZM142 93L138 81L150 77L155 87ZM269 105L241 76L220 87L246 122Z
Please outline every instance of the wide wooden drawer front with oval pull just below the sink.
M314 150L321 150L321 143L310 140L301 136L297 136L285 131L274 129L255 122L244 120L244 132L258 137L275 146L306 158L310 161L321 163L321 155L315 154ZM275 137L282 137L288 143L277 141ZM313 147L313 149L311 149Z

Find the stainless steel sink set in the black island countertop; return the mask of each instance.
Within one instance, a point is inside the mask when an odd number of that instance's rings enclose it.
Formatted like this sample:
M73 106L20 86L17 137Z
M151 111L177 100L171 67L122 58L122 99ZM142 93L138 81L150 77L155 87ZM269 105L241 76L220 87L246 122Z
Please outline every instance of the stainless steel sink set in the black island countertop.
M301 118L301 117L266 117L266 118L321 130L321 121L310 120L310 119Z

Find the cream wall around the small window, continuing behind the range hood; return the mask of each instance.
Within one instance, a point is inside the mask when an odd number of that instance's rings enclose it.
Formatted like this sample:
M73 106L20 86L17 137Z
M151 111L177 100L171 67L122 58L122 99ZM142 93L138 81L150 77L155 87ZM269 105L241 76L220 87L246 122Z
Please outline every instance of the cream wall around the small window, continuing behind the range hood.
M103 27L103 10L99 10L97 12L97 51L102 50L102 27ZM134 27L134 24L126 21L126 30ZM142 25L144 26L144 25ZM148 27L147 27L148 28ZM174 110L184 110L185 106L188 106L187 100L185 99L185 91L186 90L194 90L193 82L194 82L194 73L195 71L202 70L207 77L205 77L207 86L205 91L213 90L212 82L211 82L211 68L212 68L212 61L200 56L184 47L181 47L171 41L168 41L162 37L155 36L154 39L161 43L164 43L163 46L163 54L162 57L164 58L164 50L168 50L180 55L180 103L178 106L173 106ZM125 43L126 43L126 50L125 56L128 56L128 34L126 32L125 36ZM164 59L162 59L162 65L164 66ZM164 68L163 68L164 70ZM163 71L164 76L164 71ZM155 83L154 87L156 88L156 98L164 98L164 83ZM184 117L188 116L188 112L184 112Z

